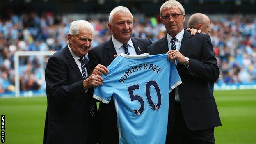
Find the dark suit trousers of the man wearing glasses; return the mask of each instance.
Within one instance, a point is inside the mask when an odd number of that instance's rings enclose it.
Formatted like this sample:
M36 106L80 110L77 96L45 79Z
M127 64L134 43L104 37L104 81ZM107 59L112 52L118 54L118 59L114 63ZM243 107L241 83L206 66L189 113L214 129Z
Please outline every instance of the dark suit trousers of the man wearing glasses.
M214 144L214 128L190 130L182 114L181 104L175 102L175 120L172 132L167 135L166 144Z

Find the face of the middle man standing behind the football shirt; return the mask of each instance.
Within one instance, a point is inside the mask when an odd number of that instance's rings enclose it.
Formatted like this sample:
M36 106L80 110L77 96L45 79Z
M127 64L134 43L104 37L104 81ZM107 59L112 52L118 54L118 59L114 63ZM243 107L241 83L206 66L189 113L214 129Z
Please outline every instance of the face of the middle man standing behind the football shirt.
M133 33L133 18L130 14L118 12L113 15L112 24L108 23L112 35L119 42L125 44Z

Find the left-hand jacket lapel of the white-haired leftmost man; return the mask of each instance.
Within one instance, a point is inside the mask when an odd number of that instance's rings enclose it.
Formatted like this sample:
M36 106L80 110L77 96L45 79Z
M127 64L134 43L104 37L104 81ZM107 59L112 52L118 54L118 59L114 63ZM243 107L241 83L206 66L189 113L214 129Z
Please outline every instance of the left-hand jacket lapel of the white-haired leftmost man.
M82 80L83 79L82 73L80 72L78 65L75 63L75 60L74 60L73 56L71 55L68 46L66 46L64 48L64 53L65 53L65 56L66 56L66 59L67 59L69 65L72 67L72 69L78 75L80 80Z

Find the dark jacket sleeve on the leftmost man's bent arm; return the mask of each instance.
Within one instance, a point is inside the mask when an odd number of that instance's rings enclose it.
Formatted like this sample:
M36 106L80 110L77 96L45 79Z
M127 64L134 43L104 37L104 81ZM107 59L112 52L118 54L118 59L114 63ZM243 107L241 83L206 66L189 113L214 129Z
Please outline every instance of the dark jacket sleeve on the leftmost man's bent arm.
M45 71L46 90L50 100L69 101L85 94L83 80L71 82L68 80L68 73L67 66L59 58L50 57Z

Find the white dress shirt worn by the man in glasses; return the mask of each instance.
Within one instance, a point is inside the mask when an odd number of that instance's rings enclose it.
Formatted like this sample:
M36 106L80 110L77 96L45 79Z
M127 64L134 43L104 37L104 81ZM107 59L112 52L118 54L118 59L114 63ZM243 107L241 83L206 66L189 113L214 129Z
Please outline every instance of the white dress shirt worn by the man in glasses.
M180 49L181 49L181 41L182 41L183 35L184 35L184 29L182 29L181 32L179 32L175 36L177 39L177 41L175 41L175 46L178 51L180 51ZM167 33L167 41L168 41L169 50L171 50L171 38L172 38L172 36ZM175 61L175 64L177 65L177 61ZM180 101L180 98L178 95L178 87L176 87L174 90L175 90L175 101Z

